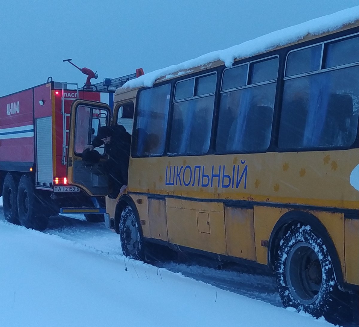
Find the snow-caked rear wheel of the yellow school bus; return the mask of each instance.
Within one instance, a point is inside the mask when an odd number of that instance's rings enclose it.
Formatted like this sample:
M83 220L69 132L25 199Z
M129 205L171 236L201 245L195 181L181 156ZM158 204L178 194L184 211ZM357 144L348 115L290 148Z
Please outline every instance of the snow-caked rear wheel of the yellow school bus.
M275 273L285 307L321 317L334 303L337 285L332 260L310 226L296 224L280 240Z

